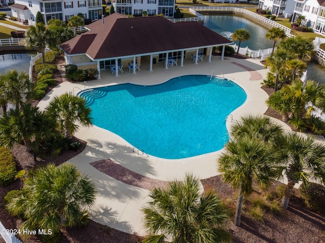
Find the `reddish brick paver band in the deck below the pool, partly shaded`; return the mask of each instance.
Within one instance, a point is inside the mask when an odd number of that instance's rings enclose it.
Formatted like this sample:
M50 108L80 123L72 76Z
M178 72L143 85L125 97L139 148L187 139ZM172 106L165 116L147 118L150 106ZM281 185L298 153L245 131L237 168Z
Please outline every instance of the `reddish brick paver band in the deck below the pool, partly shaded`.
M118 181L147 190L152 190L155 187L166 188L168 184L167 181L152 179L128 170L109 158L92 162L90 165Z

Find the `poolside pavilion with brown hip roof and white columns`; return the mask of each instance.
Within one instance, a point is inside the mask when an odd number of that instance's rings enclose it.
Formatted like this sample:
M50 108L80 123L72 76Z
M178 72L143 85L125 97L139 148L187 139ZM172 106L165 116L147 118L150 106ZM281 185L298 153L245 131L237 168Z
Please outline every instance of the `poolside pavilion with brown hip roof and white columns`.
M160 16L128 18L114 13L87 28L88 32L60 45L66 65L118 70L118 64L127 67L129 63L140 65L145 60L152 71L156 62L164 62L168 68L166 60L170 57L180 60L183 66L185 58L194 56L197 64L202 53L210 62L213 47L232 43L198 22L173 23Z

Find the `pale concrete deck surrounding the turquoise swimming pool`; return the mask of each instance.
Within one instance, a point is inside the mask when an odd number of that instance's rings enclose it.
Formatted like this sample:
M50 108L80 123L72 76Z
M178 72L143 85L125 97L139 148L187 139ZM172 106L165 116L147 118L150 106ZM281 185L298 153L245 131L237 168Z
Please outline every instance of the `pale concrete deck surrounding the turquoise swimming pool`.
M101 79L87 84L63 82L43 98L39 107L44 109L56 95L66 92L77 94L80 90L88 89L88 85L89 88L124 83L155 85L180 75L211 75L213 70L214 75L232 80L247 94L246 102L226 119L228 130L243 115L266 112L268 107L265 100L268 95L261 89L261 82L266 78L268 69L259 60L228 57L220 60L220 56L212 56L209 63L207 59L205 57L197 65L185 60L183 67L179 65L168 69L165 69L164 64L157 63L151 72L149 64L142 62L141 71L136 74L128 72L124 67L124 73L119 73L118 77L109 71L102 71ZM281 121L278 122L284 129L289 129ZM150 185L164 186L165 181L182 179L185 173L193 173L199 179L218 175L216 159L222 150L184 159L163 159L141 152L138 154L137 150L133 150L134 145L96 126L81 127L75 136L86 141L87 146L69 162L76 164L82 173L88 174L98 190L95 206L90 211L91 219L127 233L146 235L140 210L149 200Z

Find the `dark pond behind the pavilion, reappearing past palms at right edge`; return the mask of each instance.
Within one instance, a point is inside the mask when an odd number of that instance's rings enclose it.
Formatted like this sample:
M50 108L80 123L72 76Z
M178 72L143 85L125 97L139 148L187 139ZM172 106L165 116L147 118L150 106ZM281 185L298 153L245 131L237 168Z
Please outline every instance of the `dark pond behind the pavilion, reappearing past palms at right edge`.
M232 39L231 35L236 29L247 29L251 37L248 41L242 42L241 47L248 46L251 50L273 47L273 41L265 38L265 34L268 32L267 28L241 16L206 15L204 16L204 25L228 39ZM235 43L238 45L238 42ZM325 68L314 60L306 59L304 61L307 62L307 78L325 84Z

